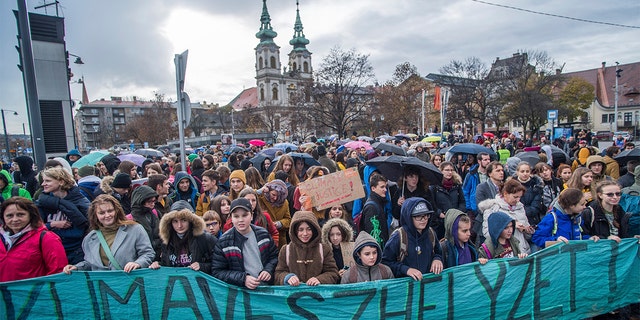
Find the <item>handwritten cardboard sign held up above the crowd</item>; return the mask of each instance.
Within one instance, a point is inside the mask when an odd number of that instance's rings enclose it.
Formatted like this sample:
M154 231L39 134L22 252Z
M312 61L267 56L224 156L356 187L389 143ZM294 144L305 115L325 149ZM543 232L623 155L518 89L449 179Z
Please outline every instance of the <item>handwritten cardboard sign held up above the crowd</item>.
M364 189L356 168L316 177L298 187L301 194L311 198L311 203L317 210L364 198Z

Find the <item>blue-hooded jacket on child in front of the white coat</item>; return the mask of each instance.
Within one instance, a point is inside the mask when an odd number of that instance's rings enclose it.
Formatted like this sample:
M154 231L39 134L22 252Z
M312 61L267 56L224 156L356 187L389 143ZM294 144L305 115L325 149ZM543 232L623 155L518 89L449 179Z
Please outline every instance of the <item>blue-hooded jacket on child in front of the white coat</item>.
M500 234L502 234L502 230L506 228L509 224L513 225L513 230L516 230L516 221L510 217L508 214L504 212L494 212L491 217L489 217L489 235L490 237L485 240L484 244L478 249L479 257L485 259L494 259L500 257L505 249L500 244L499 238ZM520 252L520 241L516 239L516 237L511 235L509 239L509 244L511 245L511 250L513 251L513 256L517 257Z

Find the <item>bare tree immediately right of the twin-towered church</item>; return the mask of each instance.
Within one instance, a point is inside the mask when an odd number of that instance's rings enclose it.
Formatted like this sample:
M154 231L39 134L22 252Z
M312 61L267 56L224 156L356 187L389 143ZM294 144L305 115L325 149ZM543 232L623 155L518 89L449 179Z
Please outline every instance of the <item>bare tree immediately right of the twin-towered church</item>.
M309 110L314 120L343 136L371 106L374 76L368 55L332 48L315 74L315 103Z

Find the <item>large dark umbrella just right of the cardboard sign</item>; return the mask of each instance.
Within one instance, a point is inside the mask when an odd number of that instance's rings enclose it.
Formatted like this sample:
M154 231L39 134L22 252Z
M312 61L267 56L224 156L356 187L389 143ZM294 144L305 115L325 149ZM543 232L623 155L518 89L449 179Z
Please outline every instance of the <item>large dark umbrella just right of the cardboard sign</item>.
M376 167L387 179L397 181L406 168L412 167L420 171L422 179L429 184L441 185L442 172L430 162L424 162L416 157L388 156L376 157L367 161L367 164ZM404 190L404 186L403 186Z

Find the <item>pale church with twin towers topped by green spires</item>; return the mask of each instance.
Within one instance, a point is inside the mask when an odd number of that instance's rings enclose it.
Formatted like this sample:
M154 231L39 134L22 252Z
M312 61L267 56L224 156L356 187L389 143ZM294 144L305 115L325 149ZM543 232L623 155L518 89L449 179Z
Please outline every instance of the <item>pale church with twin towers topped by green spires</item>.
M251 113L261 117L264 129L282 135L293 135L293 131L302 129L300 125L304 124L296 119L296 111L311 102L309 92L313 85L313 66L298 1L293 30L293 37L289 40L291 51L286 64L283 64L280 46L275 41L278 33L271 26L267 1L262 0L260 29L256 33L259 43L255 47L256 87L243 90L229 103L235 111L253 109Z

